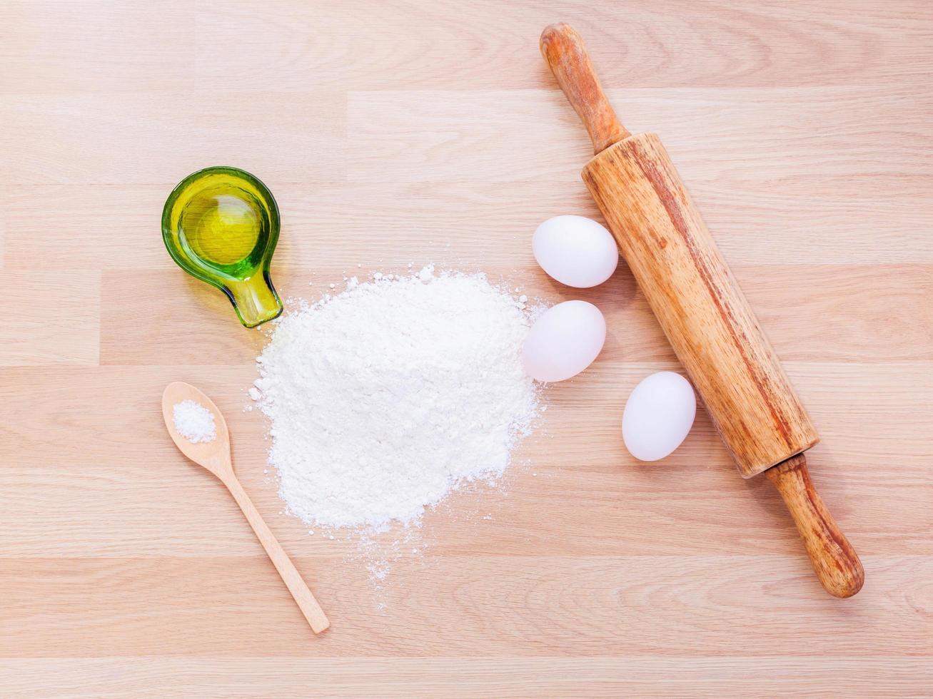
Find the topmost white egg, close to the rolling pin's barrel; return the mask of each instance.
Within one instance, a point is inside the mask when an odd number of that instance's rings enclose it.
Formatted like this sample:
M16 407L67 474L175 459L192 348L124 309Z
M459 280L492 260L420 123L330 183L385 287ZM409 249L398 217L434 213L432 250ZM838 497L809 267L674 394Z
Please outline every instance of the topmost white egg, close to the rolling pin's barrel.
M537 226L531 240L537 264L567 286L602 284L619 264L612 234L585 216L554 216Z

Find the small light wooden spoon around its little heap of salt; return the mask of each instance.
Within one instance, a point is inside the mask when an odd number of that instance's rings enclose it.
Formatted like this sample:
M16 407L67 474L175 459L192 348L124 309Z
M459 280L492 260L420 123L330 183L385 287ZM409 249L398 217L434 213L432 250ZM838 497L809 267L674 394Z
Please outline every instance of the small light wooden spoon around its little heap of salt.
M189 442L175 429L174 406L187 400L202 404L214 413L216 439L195 444ZM230 490L230 495L240 505L240 509L246 515L246 521L256 532L259 543L266 549L266 553L272 558L275 569L282 576L288 592L295 597L301 613L308 620L308 624L311 624L313 632L319 634L324 631L330 625L324 610L314 599L308 585L301 579L299 571L295 569L295 565L285 554L279 542L276 541L272 531L258 513L256 506L247 497L243 486L240 485L240 481L233 474L233 463L230 460L230 432L227 431L227 422L221 412L217 410L217 406L210 398L193 386L182 381L174 381L166 386L165 392L162 393L162 418L165 418L165 426L168 428L169 434L172 435L175 446L181 449L181 453L199 466L203 466L211 473L214 473L220 479L220 482Z

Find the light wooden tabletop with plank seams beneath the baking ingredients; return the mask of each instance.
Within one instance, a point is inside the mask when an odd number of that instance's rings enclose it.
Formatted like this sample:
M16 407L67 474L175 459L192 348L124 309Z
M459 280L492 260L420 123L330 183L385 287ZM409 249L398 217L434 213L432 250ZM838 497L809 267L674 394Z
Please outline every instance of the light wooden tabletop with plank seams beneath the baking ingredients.
M933 6L898 2L0 2L0 695L771 696L933 692ZM655 130L821 432L816 485L862 556L816 583L765 479L701 411L635 462L625 397L678 368L620 265L535 265L598 217L586 133L537 51L588 40ZM244 412L262 333L184 275L161 206L256 173L273 276L483 269L606 314L502 490L425 517L376 590L309 536ZM309 282L313 282L309 285ZM160 418L174 379L224 410L244 487L332 621L313 637L243 517ZM383 607L381 607L383 605Z

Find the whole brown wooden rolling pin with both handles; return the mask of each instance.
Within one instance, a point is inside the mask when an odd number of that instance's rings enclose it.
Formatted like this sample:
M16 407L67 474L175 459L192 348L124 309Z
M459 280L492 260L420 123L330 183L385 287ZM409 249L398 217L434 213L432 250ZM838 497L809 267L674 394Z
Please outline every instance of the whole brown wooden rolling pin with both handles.
M546 28L541 53L590 133L583 181L739 473L768 476L819 582L855 595L865 571L807 472L814 425L661 140L621 125L573 27Z

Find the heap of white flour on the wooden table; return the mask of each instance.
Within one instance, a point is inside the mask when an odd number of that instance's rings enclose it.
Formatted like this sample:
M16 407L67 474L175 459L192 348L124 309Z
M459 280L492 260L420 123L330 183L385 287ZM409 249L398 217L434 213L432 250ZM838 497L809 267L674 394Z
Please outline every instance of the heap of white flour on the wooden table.
M522 299L524 300L524 299ZM352 279L286 315L251 391L291 514L325 528L410 523L494 479L536 415L524 304L482 275Z

